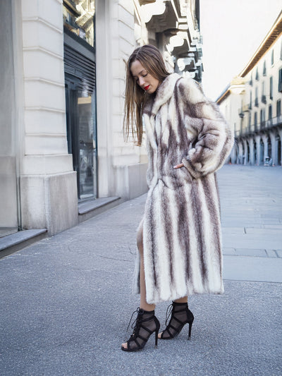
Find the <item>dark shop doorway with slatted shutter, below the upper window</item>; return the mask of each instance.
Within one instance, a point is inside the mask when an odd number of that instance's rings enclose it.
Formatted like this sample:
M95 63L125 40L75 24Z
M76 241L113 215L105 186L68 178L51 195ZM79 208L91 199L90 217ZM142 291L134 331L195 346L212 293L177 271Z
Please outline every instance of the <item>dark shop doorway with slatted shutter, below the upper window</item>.
M64 29L68 152L77 172L78 200L97 198L97 121L94 48Z

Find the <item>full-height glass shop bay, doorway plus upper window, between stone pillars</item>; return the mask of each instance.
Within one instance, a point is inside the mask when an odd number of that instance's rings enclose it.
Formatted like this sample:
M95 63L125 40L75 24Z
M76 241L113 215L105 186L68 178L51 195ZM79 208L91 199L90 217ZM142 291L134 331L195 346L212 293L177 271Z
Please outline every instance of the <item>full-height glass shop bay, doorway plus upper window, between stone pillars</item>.
M97 197L94 0L63 1L68 152L78 199Z

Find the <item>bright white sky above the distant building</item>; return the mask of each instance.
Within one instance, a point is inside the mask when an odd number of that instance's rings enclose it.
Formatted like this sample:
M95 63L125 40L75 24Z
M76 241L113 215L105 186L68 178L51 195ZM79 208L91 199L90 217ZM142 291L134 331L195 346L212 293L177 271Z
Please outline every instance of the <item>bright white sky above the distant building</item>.
M200 0L207 97L216 99L243 70L281 11L281 0Z

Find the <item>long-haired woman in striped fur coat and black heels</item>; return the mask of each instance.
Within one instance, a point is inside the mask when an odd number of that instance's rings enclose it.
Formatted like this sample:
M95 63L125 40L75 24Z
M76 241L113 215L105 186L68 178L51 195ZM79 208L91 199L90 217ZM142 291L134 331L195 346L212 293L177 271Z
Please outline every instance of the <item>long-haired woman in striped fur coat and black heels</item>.
M139 47L128 59L125 134L147 136L149 191L137 232L135 328L123 351L143 348L149 336L172 339L194 317L188 295L223 293L219 192L214 172L233 145L216 104L191 78L169 74L159 50ZM136 124L136 128L133 128ZM172 300L159 333L155 304Z

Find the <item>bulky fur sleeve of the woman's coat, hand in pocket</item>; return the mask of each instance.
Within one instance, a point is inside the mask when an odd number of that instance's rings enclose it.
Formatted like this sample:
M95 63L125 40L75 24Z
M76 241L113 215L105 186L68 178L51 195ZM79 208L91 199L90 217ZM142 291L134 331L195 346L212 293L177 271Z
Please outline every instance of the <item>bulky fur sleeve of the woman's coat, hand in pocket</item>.
M192 79L180 80L180 106L184 126L191 140L182 162L193 178L219 169L233 147L233 132L214 102L210 102Z

